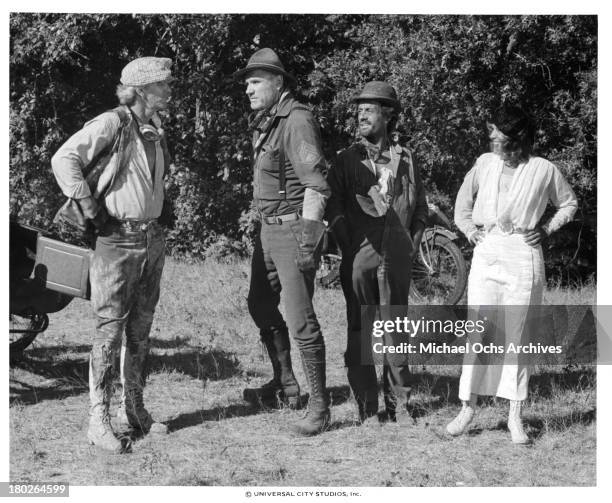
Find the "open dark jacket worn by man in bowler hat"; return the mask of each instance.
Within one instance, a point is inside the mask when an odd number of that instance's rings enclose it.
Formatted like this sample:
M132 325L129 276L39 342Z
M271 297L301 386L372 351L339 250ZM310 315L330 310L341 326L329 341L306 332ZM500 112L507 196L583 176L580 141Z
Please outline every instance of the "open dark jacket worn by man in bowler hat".
M327 181L332 195L325 218L330 222L343 217L351 238L351 248L371 244L386 255L405 259L413 249L412 234L417 222L426 225L425 189L412 154L407 148L392 145L393 157L388 167L394 172L390 207L378 216L368 195L378 183L363 144L355 143L338 154Z

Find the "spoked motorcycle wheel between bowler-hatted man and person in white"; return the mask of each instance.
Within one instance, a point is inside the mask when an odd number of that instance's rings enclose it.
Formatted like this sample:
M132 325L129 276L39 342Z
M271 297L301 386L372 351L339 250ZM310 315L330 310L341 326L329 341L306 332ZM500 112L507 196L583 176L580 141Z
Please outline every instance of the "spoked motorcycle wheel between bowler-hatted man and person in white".
M467 284L467 265L459 247L446 236L423 239L412 266L410 292L421 304L457 304Z

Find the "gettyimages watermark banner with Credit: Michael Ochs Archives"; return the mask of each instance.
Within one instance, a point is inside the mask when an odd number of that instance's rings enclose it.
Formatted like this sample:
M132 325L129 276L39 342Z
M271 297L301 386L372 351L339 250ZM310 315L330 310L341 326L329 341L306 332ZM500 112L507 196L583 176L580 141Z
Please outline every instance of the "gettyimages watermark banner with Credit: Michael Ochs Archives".
M364 364L608 364L612 306L363 306Z

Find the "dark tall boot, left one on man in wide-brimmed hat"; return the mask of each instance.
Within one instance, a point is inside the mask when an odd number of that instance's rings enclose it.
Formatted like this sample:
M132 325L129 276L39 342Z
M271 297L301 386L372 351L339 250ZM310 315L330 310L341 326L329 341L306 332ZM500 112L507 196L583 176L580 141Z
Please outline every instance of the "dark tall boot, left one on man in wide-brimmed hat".
M246 388L243 391L244 400L253 403L279 400L291 408L299 408L300 386L291 365L291 343L287 328L262 331L261 340L270 357L274 377L259 388Z

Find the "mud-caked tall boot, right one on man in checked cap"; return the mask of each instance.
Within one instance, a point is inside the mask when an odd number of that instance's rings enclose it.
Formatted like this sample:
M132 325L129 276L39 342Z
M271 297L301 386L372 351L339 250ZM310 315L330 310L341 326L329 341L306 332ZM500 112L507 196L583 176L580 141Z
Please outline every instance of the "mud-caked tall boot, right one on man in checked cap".
M150 431L167 433L163 423L157 423L144 406L144 387L146 383L146 361L149 354L147 339L126 343L121 347L121 406L117 411L117 423L121 427L131 427L142 433Z

